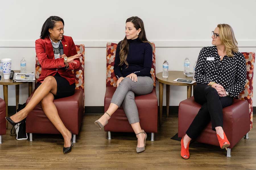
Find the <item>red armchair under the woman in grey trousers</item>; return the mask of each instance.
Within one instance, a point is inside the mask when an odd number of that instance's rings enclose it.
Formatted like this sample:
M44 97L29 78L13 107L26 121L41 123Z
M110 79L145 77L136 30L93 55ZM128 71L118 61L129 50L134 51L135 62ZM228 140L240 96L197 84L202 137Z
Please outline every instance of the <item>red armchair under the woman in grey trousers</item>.
M151 75L154 81L154 88L150 94L135 96L135 102L139 111L139 118L141 127L145 132L151 133L151 141L154 141L154 133L157 133L158 128L158 103L156 97L156 78L155 78L155 44L152 56L152 68ZM107 43L107 75L106 75L106 93L104 99L104 111L108 110L112 96L116 90L117 78L113 70L115 61L115 52L117 44ZM111 139L112 132L133 132L131 125L123 111L122 107L119 107L117 111L111 116L108 124L104 127L105 131L108 131L108 139Z

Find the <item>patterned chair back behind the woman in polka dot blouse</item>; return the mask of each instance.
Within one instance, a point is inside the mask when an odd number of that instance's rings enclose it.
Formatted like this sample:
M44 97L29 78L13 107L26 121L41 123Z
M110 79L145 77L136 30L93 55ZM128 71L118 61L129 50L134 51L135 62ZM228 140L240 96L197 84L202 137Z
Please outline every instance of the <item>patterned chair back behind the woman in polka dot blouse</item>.
M255 61L254 52L242 52L246 59L246 83L244 90L238 95L238 99L247 100L249 103L250 129L253 122L253 69Z

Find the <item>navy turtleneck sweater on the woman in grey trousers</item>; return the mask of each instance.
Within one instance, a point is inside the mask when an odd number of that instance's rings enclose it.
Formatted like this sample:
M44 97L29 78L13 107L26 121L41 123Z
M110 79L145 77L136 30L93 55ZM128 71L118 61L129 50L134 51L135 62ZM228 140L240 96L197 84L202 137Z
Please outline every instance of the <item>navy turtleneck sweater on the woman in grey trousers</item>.
M141 42L139 38L129 41L129 51L127 55L128 68L125 64L120 65L120 45L118 43L115 53L114 72L117 78L126 77L131 73L137 76L148 76L151 78L150 70L152 65L152 46L148 42Z

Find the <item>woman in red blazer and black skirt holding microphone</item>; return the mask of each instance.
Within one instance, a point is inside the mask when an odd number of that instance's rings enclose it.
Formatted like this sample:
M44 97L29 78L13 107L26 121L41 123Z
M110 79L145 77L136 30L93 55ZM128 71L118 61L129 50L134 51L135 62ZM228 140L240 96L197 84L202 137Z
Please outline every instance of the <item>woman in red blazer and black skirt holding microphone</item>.
M36 40L36 56L42 66L36 91L24 109L6 119L13 126L24 122L29 112L40 103L46 116L62 134L63 152L67 153L73 146L73 135L61 121L53 100L74 94L75 76L71 70L80 66L81 54L77 54L73 39L63 35L63 29L64 21L58 16L50 16L44 22L40 39ZM60 55L59 46L63 46L63 55Z

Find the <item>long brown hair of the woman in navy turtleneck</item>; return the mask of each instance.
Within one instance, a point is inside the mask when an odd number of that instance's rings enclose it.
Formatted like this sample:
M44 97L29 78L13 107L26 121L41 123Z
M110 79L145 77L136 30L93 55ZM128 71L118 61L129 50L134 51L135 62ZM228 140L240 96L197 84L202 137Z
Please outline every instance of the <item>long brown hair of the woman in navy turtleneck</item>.
M141 20L141 18L139 18L137 16L132 16L132 17L128 18L125 23L127 23L127 22L133 23L136 30L138 30L139 28L141 29L141 32L139 33L140 41L148 42L152 46L152 44L146 38L144 24L143 24L143 21ZM152 49L153 49L153 47L152 47ZM120 63L119 63L119 65L125 64L128 67L128 63L127 63L128 51L129 51L129 41L127 40L127 38L125 36L125 38L123 39L123 41L120 44L120 53L119 53Z

